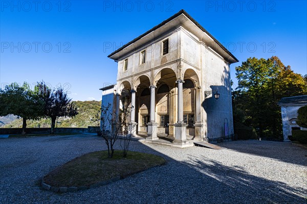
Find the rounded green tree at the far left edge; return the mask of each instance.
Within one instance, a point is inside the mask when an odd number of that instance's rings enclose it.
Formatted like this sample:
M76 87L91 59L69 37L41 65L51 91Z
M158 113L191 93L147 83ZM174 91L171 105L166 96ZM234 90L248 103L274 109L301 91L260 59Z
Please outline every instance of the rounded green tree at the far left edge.
M42 117L43 101L34 94L28 83L22 86L12 83L0 89L0 116L13 114L23 118L23 134L26 133L27 120Z

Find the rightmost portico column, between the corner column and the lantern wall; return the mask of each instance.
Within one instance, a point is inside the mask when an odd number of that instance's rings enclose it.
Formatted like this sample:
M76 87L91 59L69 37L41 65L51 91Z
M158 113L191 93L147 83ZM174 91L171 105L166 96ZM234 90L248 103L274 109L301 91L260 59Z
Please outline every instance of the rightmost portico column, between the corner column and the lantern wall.
M195 95L195 139L203 141L203 124L201 119L201 86L195 87Z

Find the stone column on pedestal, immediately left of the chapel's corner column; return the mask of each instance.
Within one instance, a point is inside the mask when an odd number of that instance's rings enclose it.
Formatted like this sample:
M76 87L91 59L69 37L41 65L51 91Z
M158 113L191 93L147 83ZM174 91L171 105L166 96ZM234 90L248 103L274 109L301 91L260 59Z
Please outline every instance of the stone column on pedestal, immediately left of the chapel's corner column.
M150 118L148 126L148 137L146 140L158 140L157 137L157 130L158 130L158 123L156 123L155 117L155 109L156 109L156 86L150 85Z

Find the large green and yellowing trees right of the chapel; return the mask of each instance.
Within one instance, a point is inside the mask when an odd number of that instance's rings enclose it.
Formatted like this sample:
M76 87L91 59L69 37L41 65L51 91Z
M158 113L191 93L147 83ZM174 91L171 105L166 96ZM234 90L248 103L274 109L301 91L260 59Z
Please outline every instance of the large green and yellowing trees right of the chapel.
M232 93L234 123L254 128L258 137L282 138L282 97L307 93L304 78L284 66L278 57L248 58L236 68L238 87Z

